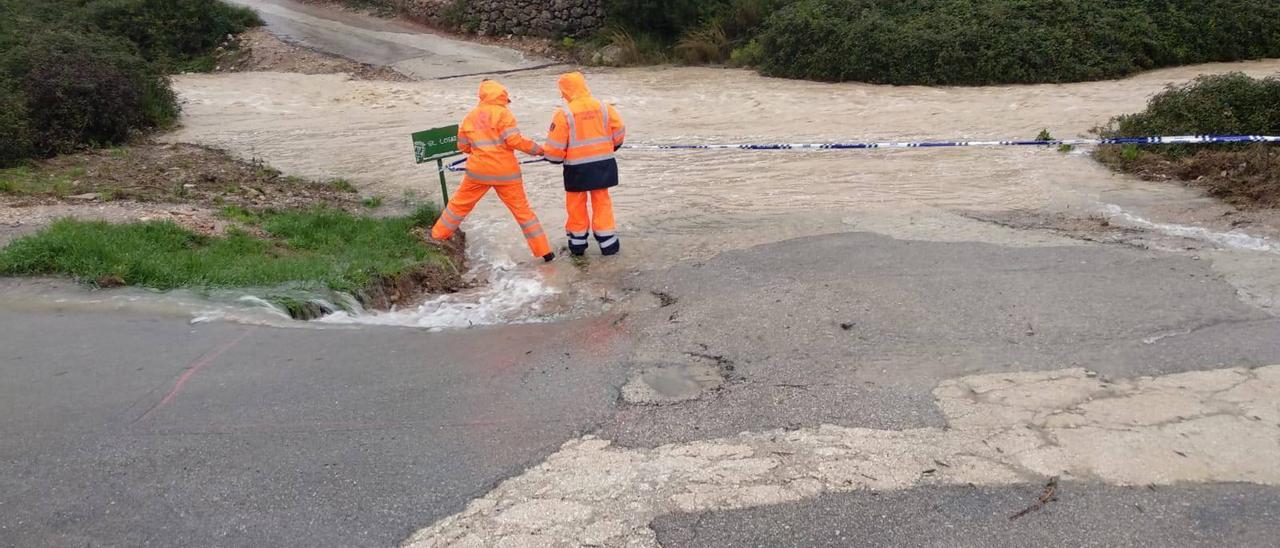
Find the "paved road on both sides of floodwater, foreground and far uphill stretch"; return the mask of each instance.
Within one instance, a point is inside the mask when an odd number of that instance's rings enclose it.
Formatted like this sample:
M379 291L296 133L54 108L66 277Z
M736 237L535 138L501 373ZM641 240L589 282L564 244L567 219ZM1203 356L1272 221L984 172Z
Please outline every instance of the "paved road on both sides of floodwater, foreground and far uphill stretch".
M422 78L536 64L241 1ZM1231 256L1006 225L742 245L625 277L630 312L444 333L0 294L0 545L1274 544L1280 320Z

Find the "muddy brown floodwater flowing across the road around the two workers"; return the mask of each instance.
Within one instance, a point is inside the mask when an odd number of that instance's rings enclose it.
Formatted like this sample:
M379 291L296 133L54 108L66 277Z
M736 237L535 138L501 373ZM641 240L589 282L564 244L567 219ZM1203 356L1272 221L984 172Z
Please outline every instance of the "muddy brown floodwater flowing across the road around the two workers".
M1230 70L1274 74L1280 60L1184 67L1123 81L982 88L829 85L669 67L591 70L588 81L598 96L617 105L632 143L1000 140L1030 138L1046 128L1057 137L1085 134L1112 115L1142 109L1170 83ZM561 101L557 74L544 69L500 77L526 134L545 133ZM479 81L184 76L175 85L186 101L183 128L168 138L261 157L285 173L347 177L362 192L434 198L439 191L433 169L413 164L408 134L457 123L474 105ZM630 150L620 161L622 186L614 202L622 256L593 259L589 274L568 261L536 270L526 265L508 214L490 200L467 229L472 257L481 265L477 275L489 277L500 294L451 297L461 301L376 321L465 326L552 318L612 301L617 274L831 232L1018 246L1078 243L1060 230L1014 230L991 222L1027 211L1137 224L1133 228L1152 233L1143 243L1148 246L1185 250L1184 241L1199 241L1190 246L1197 252L1234 254L1215 262L1226 270L1235 265L1224 273L1256 302L1275 302L1280 288L1265 274L1275 270L1277 248L1265 239L1276 236L1275 227L1249 228L1247 238L1262 242L1261 250L1233 251L1231 238L1239 234L1221 219L1225 207L1198 191L1112 174L1083 151ZM535 164L526 166L525 177L543 222L561 225L566 215L558 170ZM1181 230L1184 223L1203 233ZM1215 239L1219 236L1225 239Z

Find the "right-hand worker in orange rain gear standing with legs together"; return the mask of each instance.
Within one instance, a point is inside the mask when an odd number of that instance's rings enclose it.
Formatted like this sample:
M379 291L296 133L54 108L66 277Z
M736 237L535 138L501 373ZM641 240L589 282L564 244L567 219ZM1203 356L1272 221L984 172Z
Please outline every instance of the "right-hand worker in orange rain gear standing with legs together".
M562 76L559 88L564 105L556 111L543 150L547 160L564 164L568 250L573 255L585 254L590 230L604 255L617 254L622 246L609 188L618 184L618 163L613 152L626 138L622 117L613 105L591 97L582 73ZM589 200L590 218L586 210Z

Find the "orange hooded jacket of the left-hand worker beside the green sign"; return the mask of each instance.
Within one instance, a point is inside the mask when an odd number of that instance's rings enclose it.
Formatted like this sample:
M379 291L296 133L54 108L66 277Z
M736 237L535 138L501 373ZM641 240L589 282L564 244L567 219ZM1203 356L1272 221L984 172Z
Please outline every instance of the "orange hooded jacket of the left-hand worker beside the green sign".
M458 150L467 156L463 182L518 184L522 182L516 150L540 155L543 147L520 134L516 115L507 105L507 88L494 81L480 85L480 104L458 127Z

